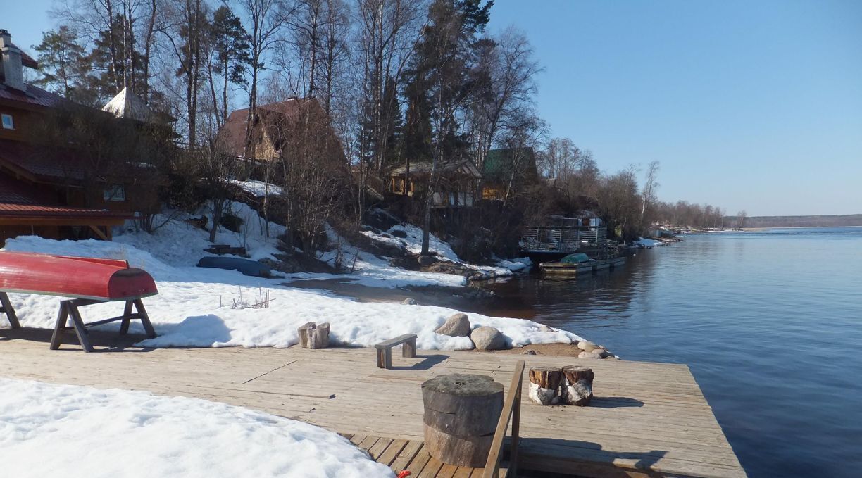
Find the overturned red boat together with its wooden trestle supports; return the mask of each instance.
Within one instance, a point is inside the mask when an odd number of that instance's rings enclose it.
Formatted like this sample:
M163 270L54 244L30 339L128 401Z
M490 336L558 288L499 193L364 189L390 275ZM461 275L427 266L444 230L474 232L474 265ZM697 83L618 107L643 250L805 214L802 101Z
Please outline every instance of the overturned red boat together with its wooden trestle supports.
M6 313L12 328L18 328L21 324L9 301L9 292L71 297L59 302L52 350L59 349L63 332L71 328L84 351L91 352L87 329L117 320L122 320L121 334L128 332L131 320L141 320L147 337L156 336L141 299L159 291L147 271L128 267L124 260L0 251L0 313ZM118 317L84 323L78 311L78 307L114 301L126 302ZM70 320L72 326L68 325Z

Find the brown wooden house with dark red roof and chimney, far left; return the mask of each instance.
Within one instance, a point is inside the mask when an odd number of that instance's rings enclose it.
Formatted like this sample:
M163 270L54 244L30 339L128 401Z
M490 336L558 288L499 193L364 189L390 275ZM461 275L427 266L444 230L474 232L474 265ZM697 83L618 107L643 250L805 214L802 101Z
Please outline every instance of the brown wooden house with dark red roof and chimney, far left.
M116 168L91 174L87 151L77 145L47 147L34 132L57 111L83 107L25 84L24 67L37 65L0 29L0 245L23 234L109 239L111 227L133 215L130 195L154 196L152 189L134 191L139 175Z

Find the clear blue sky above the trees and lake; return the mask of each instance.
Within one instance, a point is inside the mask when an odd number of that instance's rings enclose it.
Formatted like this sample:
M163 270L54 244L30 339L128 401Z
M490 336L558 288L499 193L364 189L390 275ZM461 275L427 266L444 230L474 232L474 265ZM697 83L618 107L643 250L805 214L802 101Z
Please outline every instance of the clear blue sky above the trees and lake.
M29 47L51 0L3 2ZM497 0L546 71L540 114L599 166L728 214L862 213L862 1Z

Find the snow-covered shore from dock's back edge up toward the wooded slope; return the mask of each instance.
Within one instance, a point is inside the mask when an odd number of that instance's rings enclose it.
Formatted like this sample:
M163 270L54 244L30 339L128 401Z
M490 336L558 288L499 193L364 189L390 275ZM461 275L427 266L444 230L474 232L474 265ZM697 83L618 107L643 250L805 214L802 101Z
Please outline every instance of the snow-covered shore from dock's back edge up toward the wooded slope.
M250 216L243 206L234 203L240 213ZM270 229L273 236L280 232L277 225L271 224ZM277 251L274 241L266 239L259 223L250 218L242 233L219 233L217 241L244 245L253 258L272 257ZM372 287L462 285L465 282L462 276L403 270L360 251L357 272L353 275L295 274L286 280L263 279L242 276L232 270L195 267L197 260L205 255L203 248L207 245L204 231L175 221L153 235L128 232L117 235L114 242L57 241L23 236L7 240L5 250L122 258L133 267L147 270L159 288L159 295L145 299L159 337L144 340L142 346L287 347L298 343L298 326L314 321L329 322L331 338L341 345L367 347L403 333L415 333L417 345L422 349L472 348L468 337L449 337L434 332L447 317L458 312L452 308L357 302L323 290L297 289L291 288L289 282L285 284L292 279L349 277ZM253 304L261 296L269 299L270 307L242 307L241 304ZM10 294L9 298L23 326L53 328L57 297ZM234 302L240 305L234 307ZM87 307L84 314L109 317L118 314L117 307L120 306L98 304ZM513 347L571 344L580 339L574 333L552 331L530 320L469 315L473 328L493 326L503 332L507 345ZM103 327L116 329L118 326L114 323ZM132 326L133 332L142 332L140 324L133 321Z

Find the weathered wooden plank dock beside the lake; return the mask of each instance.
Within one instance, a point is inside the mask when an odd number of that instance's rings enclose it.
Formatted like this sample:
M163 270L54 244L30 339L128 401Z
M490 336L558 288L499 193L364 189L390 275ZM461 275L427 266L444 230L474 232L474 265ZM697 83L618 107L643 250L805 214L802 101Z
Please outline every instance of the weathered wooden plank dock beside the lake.
M596 372L596 398L590 407L540 407L524 395L521 469L581 476L745 476L685 365L419 351L415 358L395 357L392 369L378 369L374 349L117 347L88 354L73 345L50 351L49 340L50 331L0 329L0 375L255 408L362 438L360 444L372 437L369 448L377 446L378 459L393 453L398 457L408 444L421 445L420 384L431 377L482 374L508 389L521 359L528 367L586 365ZM93 343L98 351L96 337ZM526 376L523 380L527 382ZM524 386L523 394L527 390ZM393 451L393 444L403 447ZM414 458L393 458L388 464L409 469L417 466ZM420 463L423 469L429 461ZM422 471L422 476L452 476L450 471L454 473L440 465L433 474Z

